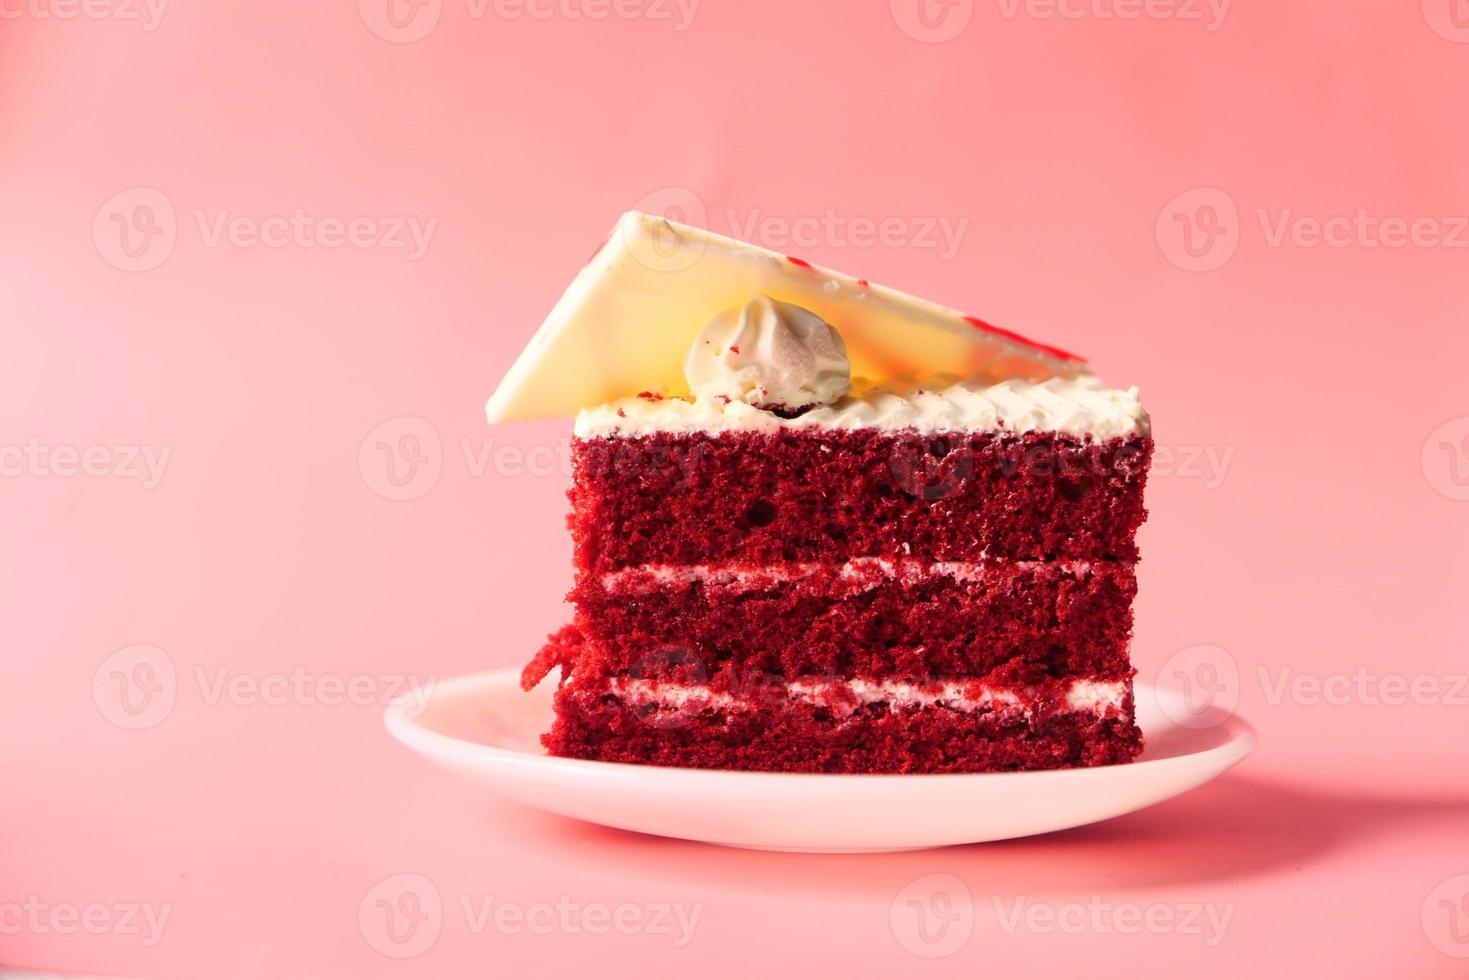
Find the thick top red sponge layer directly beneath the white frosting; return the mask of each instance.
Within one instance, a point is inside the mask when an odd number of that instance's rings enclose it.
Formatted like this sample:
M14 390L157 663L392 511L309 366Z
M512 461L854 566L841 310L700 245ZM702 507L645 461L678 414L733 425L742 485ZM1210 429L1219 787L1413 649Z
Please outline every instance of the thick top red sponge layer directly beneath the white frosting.
M573 442L577 567L1133 561L1152 439L780 430Z

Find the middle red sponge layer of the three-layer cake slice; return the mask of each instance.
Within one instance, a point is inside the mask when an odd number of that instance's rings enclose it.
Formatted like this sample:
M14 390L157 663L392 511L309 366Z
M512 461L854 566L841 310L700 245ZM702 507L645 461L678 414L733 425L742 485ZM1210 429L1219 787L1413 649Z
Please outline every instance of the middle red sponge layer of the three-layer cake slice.
M705 567L589 576L573 591L596 639L583 669L705 680L782 677L1130 676L1137 591L1115 561L989 560L936 569L914 560L814 567Z

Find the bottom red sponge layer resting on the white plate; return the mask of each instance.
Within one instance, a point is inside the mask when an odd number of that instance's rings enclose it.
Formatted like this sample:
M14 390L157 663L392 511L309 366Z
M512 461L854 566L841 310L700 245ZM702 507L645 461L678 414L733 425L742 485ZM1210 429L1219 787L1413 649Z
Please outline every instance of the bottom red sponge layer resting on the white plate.
M555 755L607 763L799 773L986 773L1127 763L1141 749L1128 695L1097 714L1039 705L959 711L789 699L754 708L661 707L595 686L557 695Z

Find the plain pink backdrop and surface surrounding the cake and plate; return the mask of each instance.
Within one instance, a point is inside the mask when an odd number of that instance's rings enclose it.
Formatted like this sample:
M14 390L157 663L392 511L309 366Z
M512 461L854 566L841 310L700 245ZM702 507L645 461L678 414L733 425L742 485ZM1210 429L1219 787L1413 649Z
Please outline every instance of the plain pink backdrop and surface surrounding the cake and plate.
M956 0L933 28L915 0L704 0L687 24L663 0L398 0L392 22L385 1L4 7L0 962L1465 974L1465 0ZM787 251L1138 383L1175 453L1149 488L1140 676L1237 699L1256 755L1108 824L852 858L571 824L391 743L395 676L519 664L567 614L566 476L541 454L569 426L492 430L480 407L639 201L773 219L767 244L796 229ZM213 234L297 209L364 219L357 244ZM1397 231L1312 237L1359 212ZM391 247L405 216L436 222L422 256ZM956 251L930 219L967 222ZM376 447L404 436L420 469L389 473ZM165 699L134 730L112 680L145 680L140 658ZM355 704L322 702L348 682ZM451 908L397 959L358 908L403 873ZM930 874L972 895L949 958L890 926ZM912 887L931 904L934 882ZM491 895L702 911L682 948L474 933L457 902ZM1213 945L1006 929L1015 901L1230 921ZM129 904L169 908L157 942ZM98 934L66 929L95 905Z

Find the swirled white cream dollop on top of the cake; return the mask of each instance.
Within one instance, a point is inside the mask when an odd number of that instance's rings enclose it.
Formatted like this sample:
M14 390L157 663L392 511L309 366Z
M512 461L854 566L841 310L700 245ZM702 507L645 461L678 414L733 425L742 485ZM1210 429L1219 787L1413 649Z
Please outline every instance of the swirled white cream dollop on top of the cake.
M710 320L683 375L699 398L768 408L827 406L852 388L842 335L811 310L768 295Z

